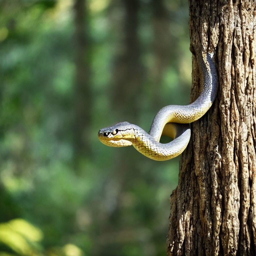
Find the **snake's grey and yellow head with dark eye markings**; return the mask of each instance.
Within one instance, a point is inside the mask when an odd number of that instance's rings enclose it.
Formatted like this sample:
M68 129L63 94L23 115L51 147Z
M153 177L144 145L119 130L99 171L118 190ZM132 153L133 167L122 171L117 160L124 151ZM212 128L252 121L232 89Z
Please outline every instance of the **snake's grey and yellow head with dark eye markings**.
M133 126L128 122L121 122L105 127L99 130L98 138L103 144L111 147L131 146L135 141Z

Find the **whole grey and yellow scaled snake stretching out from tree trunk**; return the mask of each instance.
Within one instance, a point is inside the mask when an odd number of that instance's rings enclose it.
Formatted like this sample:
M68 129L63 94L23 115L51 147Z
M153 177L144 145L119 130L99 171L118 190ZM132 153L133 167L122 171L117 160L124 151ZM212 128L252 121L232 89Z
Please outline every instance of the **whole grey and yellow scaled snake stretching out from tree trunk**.
M190 140L190 123L201 118L209 110L217 95L218 76L213 53L202 52L198 59L203 76L203 90L194 102L161 108L155 115L148 133L137 125L119 122L100 129L99 140L112 147L133 145L146 157L158 161L180 155ZM173 140L160 143L162 135Z

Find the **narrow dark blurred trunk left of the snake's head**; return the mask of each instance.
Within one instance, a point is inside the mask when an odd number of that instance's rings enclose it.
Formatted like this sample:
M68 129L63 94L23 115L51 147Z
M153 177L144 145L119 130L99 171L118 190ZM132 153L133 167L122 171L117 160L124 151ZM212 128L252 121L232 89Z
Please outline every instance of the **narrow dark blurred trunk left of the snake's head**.
M90 49L87 26L86 0L76 0L75 11L75 123L74 123L74 154L75 161L90 152Z

